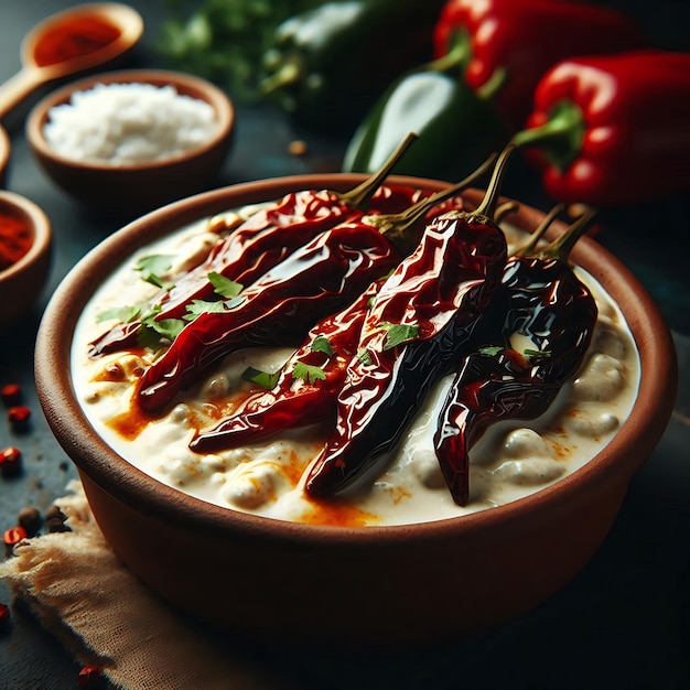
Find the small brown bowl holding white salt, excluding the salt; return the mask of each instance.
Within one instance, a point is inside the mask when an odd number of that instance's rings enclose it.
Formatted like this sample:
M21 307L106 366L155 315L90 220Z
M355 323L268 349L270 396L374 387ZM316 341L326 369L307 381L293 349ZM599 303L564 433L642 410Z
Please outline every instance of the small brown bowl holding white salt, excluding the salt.
M91 89L97 84L126 83L172 85L181 95L211 104L216 112L217 132L198 148L150 163L114 165L73 160L51 149L43 131L51 108L69 103L75 91ZM74 198L104 211L143 213L208 188L228 153L234 123L231 101L213 84L175 72L132 69L90 76L53 91L30 112L26 138L41 166Z

